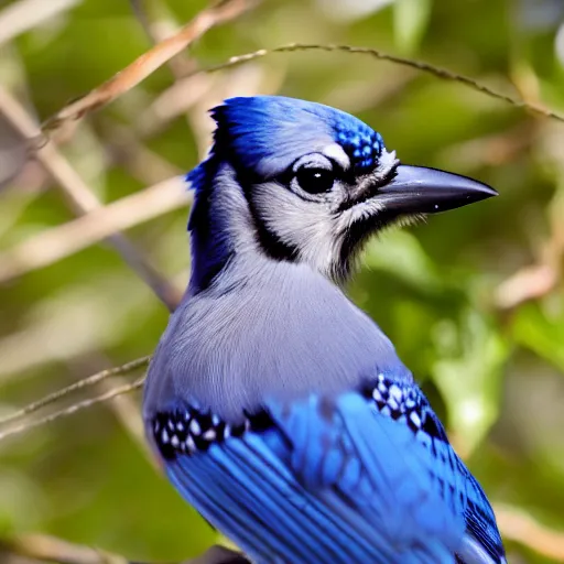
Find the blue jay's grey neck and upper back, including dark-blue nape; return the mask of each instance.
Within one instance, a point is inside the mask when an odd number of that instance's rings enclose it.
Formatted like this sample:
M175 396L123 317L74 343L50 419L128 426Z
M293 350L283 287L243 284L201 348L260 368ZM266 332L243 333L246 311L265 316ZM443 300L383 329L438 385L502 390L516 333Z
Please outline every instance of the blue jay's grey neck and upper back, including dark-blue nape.
M197 193L189 229L191 283L161 357L182 358L199 404L235 420L267 392L337 393L378 371L411 380L388 337L339 288L262 251L230 167Z

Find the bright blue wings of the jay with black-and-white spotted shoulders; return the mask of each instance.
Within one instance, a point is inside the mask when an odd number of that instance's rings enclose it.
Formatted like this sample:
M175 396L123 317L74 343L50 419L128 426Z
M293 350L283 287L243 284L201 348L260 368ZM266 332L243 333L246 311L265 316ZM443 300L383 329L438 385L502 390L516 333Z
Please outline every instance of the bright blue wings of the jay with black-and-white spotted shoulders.
M152 431L176 488L259 563L501 562L475 557L484 532L499 552L489 505L419 389L398 388L270 401L241 426L181 405Z

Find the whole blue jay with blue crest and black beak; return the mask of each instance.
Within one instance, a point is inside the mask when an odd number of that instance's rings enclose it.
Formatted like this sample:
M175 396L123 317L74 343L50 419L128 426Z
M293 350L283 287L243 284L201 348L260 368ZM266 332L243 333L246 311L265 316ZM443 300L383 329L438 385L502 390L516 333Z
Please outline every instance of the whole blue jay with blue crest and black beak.
M506 563L481 486L346 294L370 237L497 192L403 164L314 101L235 97L210 115L186 175L189 282L143 392L167 478L257 564Z

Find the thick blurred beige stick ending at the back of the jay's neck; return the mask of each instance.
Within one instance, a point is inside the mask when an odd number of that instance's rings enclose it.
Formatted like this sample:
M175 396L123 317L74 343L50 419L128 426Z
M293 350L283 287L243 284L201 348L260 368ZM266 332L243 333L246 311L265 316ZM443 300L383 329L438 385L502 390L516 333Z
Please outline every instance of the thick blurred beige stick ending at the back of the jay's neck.
M192 194L185 188L182 177L169 178L105 207L98 207L77 219L32 236L0 253L0 283L53 264L91 245L115 238L122 230L186 206L191 197ZM175 289L169 283L167 286ZM163 291L162 284L153 286L155 288L160 288L159 292ZM176 290L174 294L167 290L165 295L167 302L173 296L173 301L170 302L173 308L180 300L180 294Z

